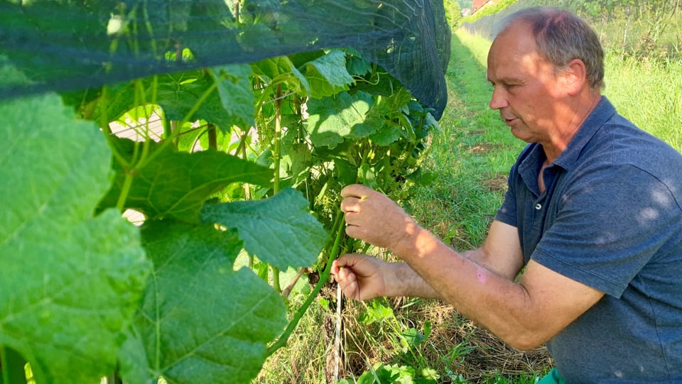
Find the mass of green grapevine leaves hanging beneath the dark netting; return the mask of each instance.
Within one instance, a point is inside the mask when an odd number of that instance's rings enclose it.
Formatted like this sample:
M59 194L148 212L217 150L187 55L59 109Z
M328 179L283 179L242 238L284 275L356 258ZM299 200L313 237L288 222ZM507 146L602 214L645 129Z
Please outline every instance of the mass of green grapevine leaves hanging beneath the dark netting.
M202 12L190 3L158 2L174 20L169 36L205 28L183 21ZM119 27L112 45L126 33L153 33ZM261 32L266 43L272 31ZM178 59L210 49L196 43ZM31 81L0 60L6 81ZM38 384L114 373L124 383L249 383L287 345L331 260L357 245L345 239L340 189L364 182L400 194L438 129L432 111L354 50L0 104L0 197L8 202L0 351L21 355ZM113 123L138 138L114 135ZM141 226L121 218L128 209L144 216ZM291 273L278 270L302 267L320 281L301 290L308 297L289 316L278 280ZM420 337L408 332L406 349ZM23 367L21 358L14 364Z

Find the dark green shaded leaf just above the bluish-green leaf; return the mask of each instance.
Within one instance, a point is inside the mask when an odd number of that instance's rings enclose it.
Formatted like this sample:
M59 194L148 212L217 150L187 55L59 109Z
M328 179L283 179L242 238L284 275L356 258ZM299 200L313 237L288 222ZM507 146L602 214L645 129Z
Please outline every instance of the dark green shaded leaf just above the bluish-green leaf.
M136 143L113 140L119 154L132 158ZM156 158L136 170L125 207L144 212L151 219L171 217L198 223L199 211L206 199L230 183L267 186L271 182L272 171L268 168L227 153L215 150L186 153L172 146L161 148L157 143L149 144ZM100 203L101 207L114 207L124 186L126 170L115 160L114 170L114 185Z

